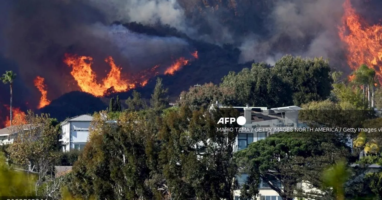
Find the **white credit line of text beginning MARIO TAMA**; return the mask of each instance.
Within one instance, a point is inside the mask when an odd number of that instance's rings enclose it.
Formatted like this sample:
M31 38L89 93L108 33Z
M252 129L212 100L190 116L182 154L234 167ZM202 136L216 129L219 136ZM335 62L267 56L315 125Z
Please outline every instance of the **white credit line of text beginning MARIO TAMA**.
M216 128L216 131L221 132L268 132L268 131L274 131L274 132L381 132L382 127L379 128L341 128L341 127L317 127L317 128L309 128L309 127L267 127L267 128L248 128L248 127L240 127L240 128Z

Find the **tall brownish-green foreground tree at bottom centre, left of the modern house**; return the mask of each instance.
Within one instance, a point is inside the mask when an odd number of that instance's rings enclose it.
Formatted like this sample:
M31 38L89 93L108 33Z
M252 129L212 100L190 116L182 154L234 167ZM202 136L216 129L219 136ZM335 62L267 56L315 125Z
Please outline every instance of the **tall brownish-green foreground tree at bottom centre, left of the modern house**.
M232 160L236 131L217 131L217 119L238 116L234 109L212 115L183 106L163 116L159 164L160 199L220 200L233 198L236 165ZM238 127L230 125L229 127ZM155 188L156 189L156 188Z

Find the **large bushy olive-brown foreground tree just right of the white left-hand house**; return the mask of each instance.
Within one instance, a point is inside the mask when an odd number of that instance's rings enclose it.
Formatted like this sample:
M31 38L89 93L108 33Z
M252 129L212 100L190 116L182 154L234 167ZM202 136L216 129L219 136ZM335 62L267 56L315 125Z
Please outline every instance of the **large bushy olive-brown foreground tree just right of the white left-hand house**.
M153 134L135 112L122 112L117 123L94 115L89 143L73 166L70 192L84 199L151 199L146 147Z

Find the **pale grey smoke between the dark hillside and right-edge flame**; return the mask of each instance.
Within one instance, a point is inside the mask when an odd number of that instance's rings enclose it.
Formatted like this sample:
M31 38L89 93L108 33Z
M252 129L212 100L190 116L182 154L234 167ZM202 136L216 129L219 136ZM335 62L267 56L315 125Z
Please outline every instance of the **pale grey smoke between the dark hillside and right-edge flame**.
M344 0L280 0L269 16L267 38L250 35L240 46L241 62L264 61L269 64L284 54L303 57L332 58L340 51L337 26L341 19ZM291 41L288 48L280 43ZM308 46L302 43L308 42Z

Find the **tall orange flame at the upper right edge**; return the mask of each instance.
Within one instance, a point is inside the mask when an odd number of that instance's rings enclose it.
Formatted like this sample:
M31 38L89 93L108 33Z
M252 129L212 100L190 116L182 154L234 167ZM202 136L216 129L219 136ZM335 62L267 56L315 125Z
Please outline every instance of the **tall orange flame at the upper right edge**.
M351 6L350 0L343 4L345 14L343 25L339 27L339 36L347 44L347 62L355 70L361 64L376 69L377 78L382 81L382 26L368 26ZM377 66L380 65L380 66Z

